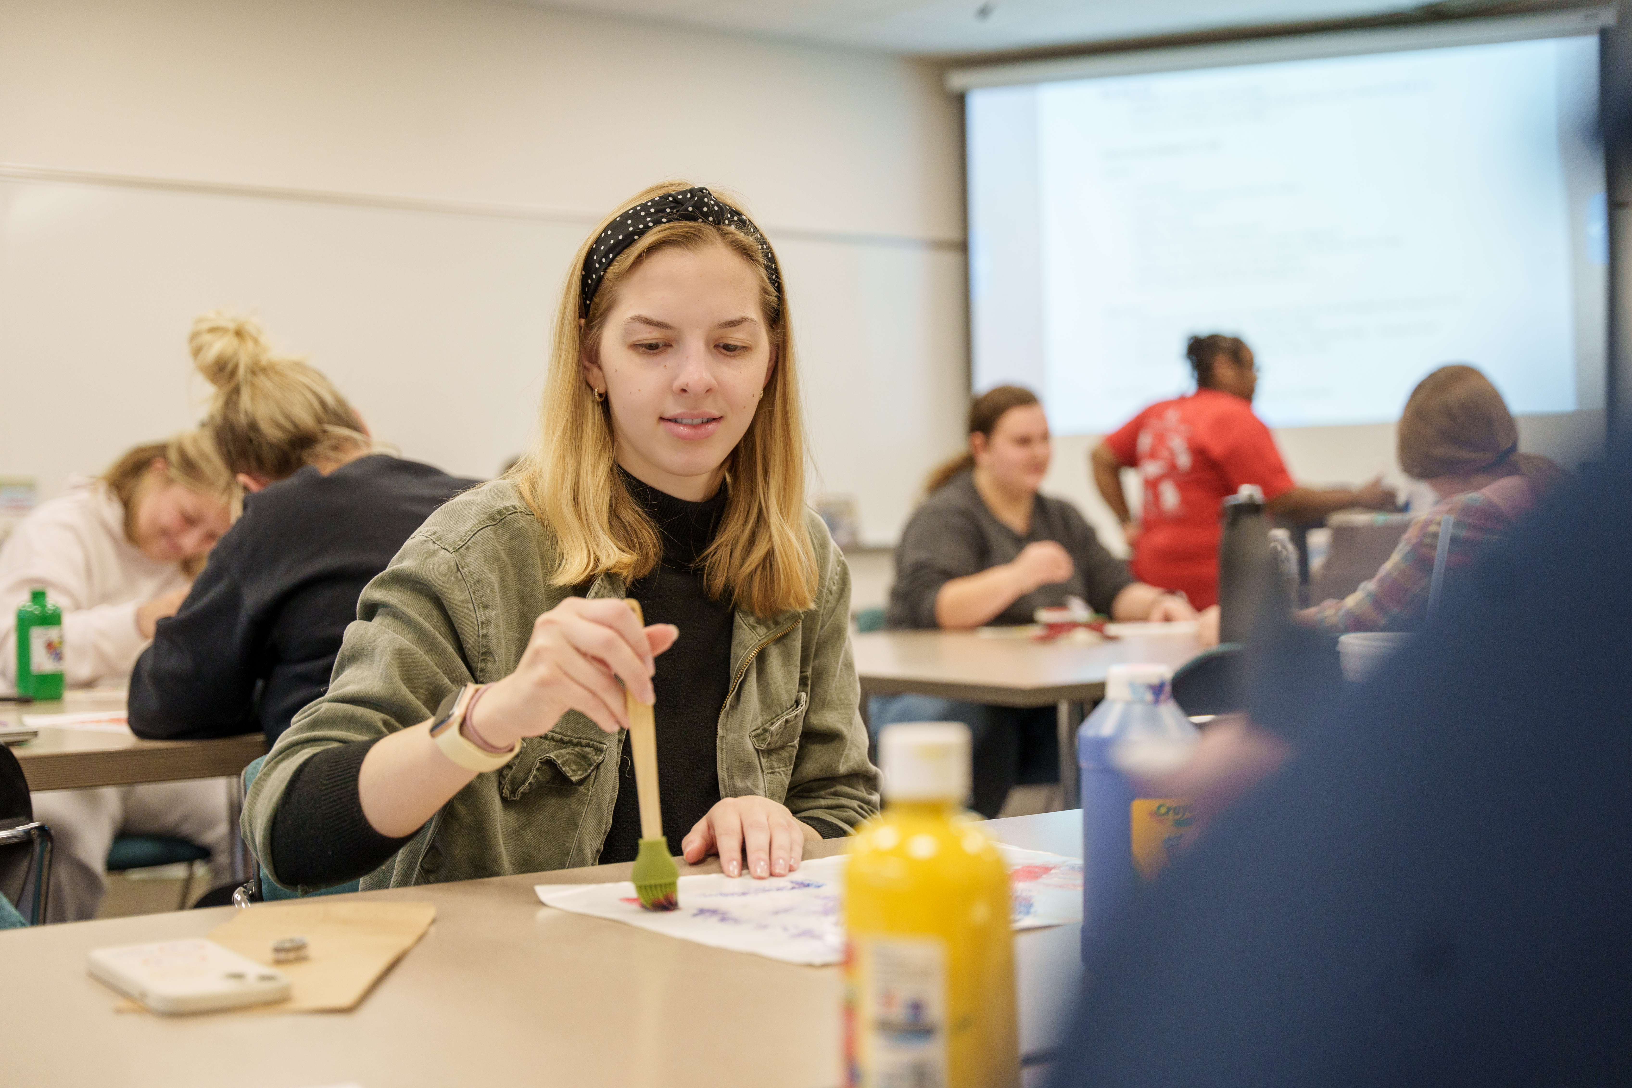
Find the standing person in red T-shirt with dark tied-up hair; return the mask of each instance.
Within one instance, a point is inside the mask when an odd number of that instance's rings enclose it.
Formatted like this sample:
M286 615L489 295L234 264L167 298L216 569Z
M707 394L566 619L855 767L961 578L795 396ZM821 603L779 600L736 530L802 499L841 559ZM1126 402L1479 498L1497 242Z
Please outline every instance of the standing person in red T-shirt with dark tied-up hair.
M1234 336L1191 336L1185 354L1196 375L1190 396L1151 405L1093 450L1093 483L1133 545L1133 574L1182 589L1196 608L1217 604L1219 502L1257 484L1270 514L1317 522L1351 506L1392 509L1394 494L1373 480L1359 491L1299 488L1270 429L1252 411L1258 369ZM1144 504L1136 524L1121 470L1138 467Z

